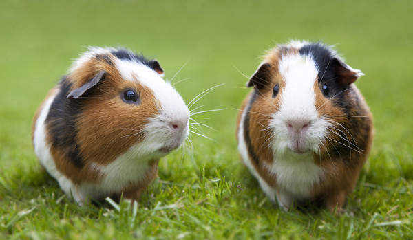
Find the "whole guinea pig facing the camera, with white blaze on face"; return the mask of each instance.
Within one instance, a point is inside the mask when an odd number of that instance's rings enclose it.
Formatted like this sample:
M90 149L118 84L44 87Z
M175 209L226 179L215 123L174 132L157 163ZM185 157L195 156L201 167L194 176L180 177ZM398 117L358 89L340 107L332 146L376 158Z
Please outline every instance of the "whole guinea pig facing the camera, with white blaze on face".
M354 85L363 73L323 43L270 50L246 83L237 117L242 162L280 208L341 212L372 146L372 114Z

